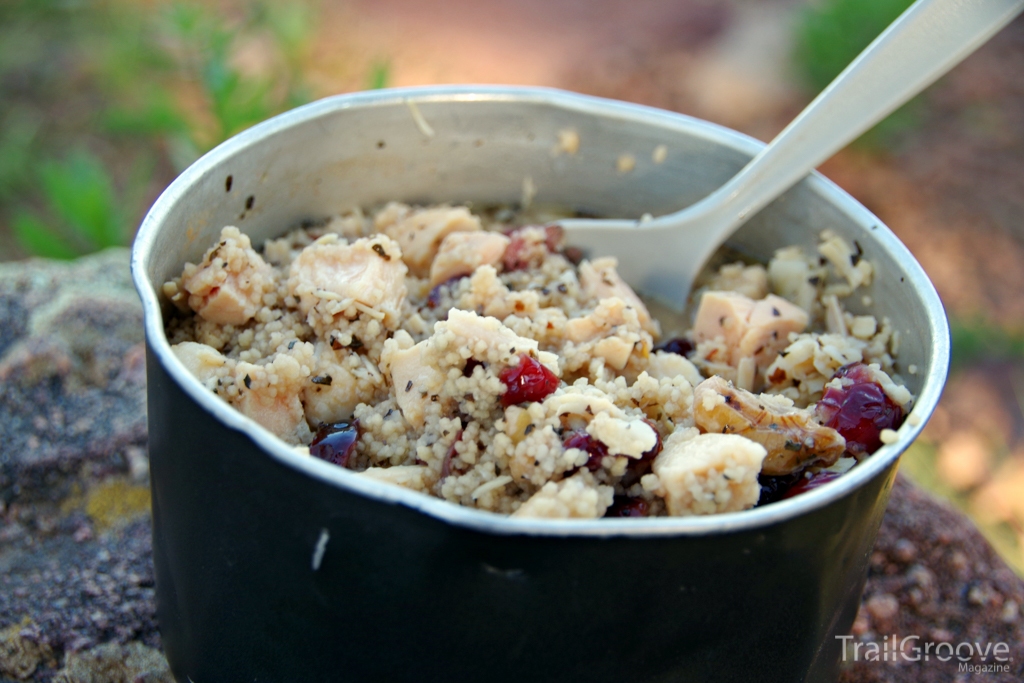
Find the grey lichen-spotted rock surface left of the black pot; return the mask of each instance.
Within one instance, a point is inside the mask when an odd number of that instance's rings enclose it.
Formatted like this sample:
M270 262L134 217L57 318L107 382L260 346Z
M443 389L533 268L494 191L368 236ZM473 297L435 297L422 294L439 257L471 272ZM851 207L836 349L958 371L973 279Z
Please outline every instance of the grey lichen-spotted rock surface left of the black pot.
M127 250L0 264L0 680L162 659L142 339Z

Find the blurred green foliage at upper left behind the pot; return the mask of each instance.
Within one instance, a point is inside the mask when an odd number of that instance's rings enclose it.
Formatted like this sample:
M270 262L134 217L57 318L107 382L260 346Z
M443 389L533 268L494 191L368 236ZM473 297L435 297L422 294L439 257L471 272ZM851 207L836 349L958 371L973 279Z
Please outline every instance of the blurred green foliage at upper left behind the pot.
M311 99L317 13L315 0L0 3L0 223L40 256L127 244L153 186Z

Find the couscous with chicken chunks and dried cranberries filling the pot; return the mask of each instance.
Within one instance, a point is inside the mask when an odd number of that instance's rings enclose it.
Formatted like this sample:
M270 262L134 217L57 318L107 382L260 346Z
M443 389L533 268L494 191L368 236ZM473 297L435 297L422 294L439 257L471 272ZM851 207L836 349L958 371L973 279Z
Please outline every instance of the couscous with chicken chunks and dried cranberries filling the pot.
M509 212L391 203L236 227L164 293L207 388L309 457L521 517L732 512L876 451L911 404L898 335L842 301L857 245L733 263L662 340L615 259Z

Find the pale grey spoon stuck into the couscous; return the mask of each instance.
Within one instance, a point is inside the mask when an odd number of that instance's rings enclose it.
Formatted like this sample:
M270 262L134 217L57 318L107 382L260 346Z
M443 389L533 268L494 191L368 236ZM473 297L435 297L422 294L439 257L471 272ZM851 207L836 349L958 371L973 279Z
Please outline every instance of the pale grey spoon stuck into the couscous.
M589 253L617 255L626 282L681 310L693 280L733 230L959 63L1022 9L1024 0L918 0L711 195L646 221L561 220L566 242Z

